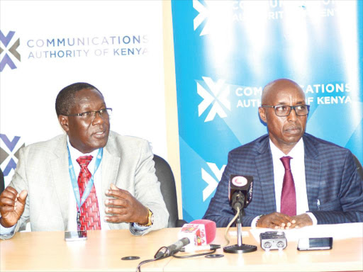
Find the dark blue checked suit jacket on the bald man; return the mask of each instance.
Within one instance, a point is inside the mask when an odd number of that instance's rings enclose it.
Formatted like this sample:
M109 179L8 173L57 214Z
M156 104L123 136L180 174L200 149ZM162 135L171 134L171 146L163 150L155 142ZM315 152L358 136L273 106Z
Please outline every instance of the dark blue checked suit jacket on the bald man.
M362 179L350 150L308 133L303 135L303 144L308 211L318 224L363 222ZM230 174L253 176L252 202L245 208L242 225L250 226L256 216L277 211L268 135L229 152L228 164L203 217L216 222L217 227L227 227L235 215L228 200Z

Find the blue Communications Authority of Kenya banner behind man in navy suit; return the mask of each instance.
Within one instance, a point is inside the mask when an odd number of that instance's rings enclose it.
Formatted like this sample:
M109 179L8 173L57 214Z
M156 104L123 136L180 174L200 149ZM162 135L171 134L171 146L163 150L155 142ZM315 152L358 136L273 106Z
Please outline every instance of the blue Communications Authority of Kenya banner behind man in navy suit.
M257 109L274 79L301 85L308 133L363 162L362 6L172 1L185 220L203 216L228 152L267 133Z

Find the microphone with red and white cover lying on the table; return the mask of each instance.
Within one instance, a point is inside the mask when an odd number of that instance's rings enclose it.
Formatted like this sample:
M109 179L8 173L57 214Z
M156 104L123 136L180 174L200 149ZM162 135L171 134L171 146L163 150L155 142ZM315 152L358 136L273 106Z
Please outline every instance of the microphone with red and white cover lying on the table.
M184 224L178 233L179 241L157 251L155 259L172 256L172 254L181 251L184 246L186 249L206 246L216 238L216 229L216 222L211 220L194 220L189 224Z

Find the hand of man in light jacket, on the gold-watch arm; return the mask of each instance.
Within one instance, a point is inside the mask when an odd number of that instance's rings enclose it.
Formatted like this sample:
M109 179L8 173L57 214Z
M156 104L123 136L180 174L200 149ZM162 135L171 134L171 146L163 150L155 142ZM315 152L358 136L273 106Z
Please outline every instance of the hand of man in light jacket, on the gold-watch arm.
M111 189L106 196L111 198L105 201L105 220L111 223L134 222L140 225L147 224L149 212L147 208L134 198L128 191L117 188L111 183Z

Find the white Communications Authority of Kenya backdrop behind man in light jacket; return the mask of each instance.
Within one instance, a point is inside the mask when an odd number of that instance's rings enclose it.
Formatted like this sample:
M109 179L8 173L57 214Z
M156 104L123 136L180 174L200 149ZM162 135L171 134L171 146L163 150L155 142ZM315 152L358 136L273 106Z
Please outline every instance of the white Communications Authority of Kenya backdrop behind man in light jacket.
M166 158L161 1L1 1L0 10L3 171L24 143L62 133L55 98L77 81L104 94L111 130L149 140ZM21 61L11 50L18 39ZM7 184L13 170L5 172Z

